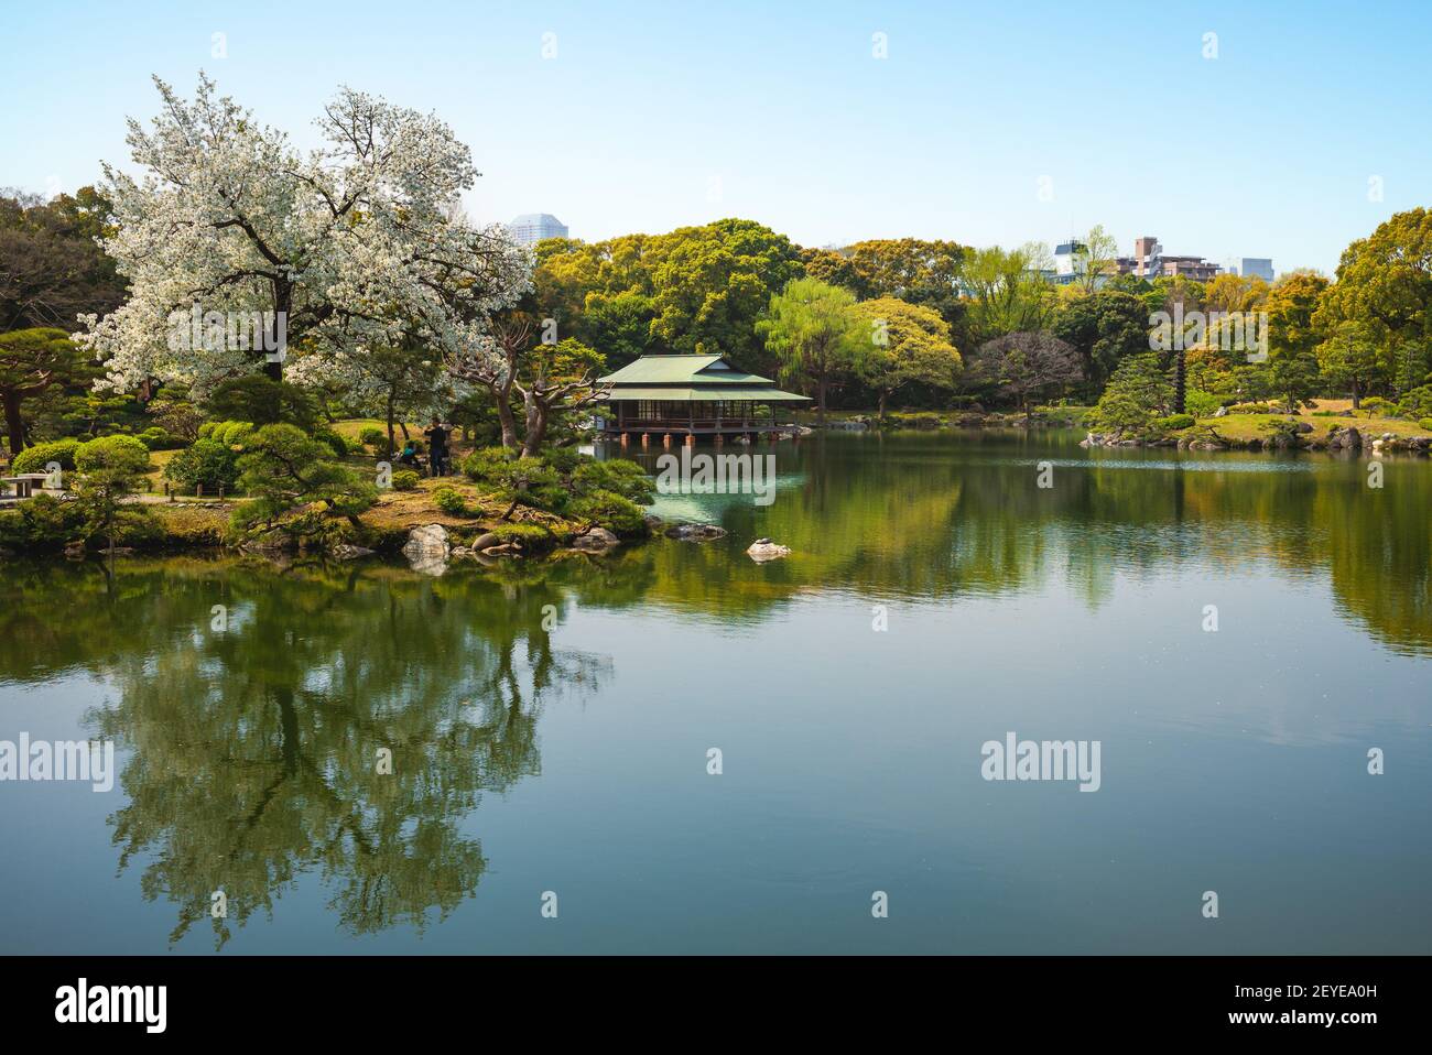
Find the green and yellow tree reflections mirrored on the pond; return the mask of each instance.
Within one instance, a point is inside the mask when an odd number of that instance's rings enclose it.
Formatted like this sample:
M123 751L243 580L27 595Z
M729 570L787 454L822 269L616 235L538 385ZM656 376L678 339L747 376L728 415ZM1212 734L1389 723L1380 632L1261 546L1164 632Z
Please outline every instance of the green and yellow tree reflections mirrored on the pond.
M11 561L0 687L73 673L113 686L87 721L126 752L119 867L173 905L170 942L211 928L222 948L305 873L355 935L421 930L471 898L488 867L471 835L483 794L537 776L543 710L597 697L613 674L554 647L547 627L573 606L630 613L633 633L669 617L750 626L821 594L934 604L1064 584L1097 608L1120 575L1243 568L1326 583L1389 648L1432 653L1426 462L1389 461L1376 491L1352 461L1101 458L1050 437L828 437L778 455L799 482L773 505L700 507L727 538L606 560L442 578L375 563ZM1057 462L1048 490L1041 455ZM758 535L795 554L756 565L742 550ZM225 919L211 918L215 890Z

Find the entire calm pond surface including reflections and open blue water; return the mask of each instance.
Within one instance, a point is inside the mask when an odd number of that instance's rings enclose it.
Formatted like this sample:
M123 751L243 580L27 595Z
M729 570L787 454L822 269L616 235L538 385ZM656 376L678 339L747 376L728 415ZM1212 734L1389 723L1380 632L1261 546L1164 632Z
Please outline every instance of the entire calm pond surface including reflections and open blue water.
M0 952L1432 952L1432 464L756 449L606 560L0 564L0 739L120 767L0 783Z

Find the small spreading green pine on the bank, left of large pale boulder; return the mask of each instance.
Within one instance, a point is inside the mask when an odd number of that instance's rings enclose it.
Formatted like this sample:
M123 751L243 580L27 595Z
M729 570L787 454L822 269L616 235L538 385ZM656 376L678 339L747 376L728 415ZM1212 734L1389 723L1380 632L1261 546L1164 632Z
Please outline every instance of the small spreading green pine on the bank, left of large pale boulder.
M377 501L377 487L345 465L328 461L328 447L294 425L263 425L248 438L239 457L239 487L251 501L235 508L233 525L318 535L329 517L357 524L358 514ZM301 505L314 508L279 522Z

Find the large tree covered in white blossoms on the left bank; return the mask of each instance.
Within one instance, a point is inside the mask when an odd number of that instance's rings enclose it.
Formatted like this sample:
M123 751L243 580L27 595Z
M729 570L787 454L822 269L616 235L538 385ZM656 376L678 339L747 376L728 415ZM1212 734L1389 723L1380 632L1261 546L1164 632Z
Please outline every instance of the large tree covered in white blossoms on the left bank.
M130 292L82 316L99 388L159 378L202 397L259 369L358 385L368 349L417 335L447 361L481 346L491 312L530 286L528 251L457 208L478 173L435 116L342 89L316 120L322 146L299 152L202 73L192 103L155 84L160 116L126 137L140 175L105 166L105 249Z

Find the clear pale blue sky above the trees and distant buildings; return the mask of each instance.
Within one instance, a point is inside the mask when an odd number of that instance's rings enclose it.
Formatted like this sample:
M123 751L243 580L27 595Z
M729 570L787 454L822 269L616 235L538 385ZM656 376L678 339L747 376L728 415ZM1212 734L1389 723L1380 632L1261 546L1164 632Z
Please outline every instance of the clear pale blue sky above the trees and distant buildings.
M301 145L338 84L435 110L484 173L474 218L550 212L577 238L746 216L802 245L1053 245L1103 223L1124 252L1156 235L1330 273L1432 205L1429 40L1429 0L7 1L0 186L96 182L129 160L125 117L156 113L150 74L189 93L203 69Z

